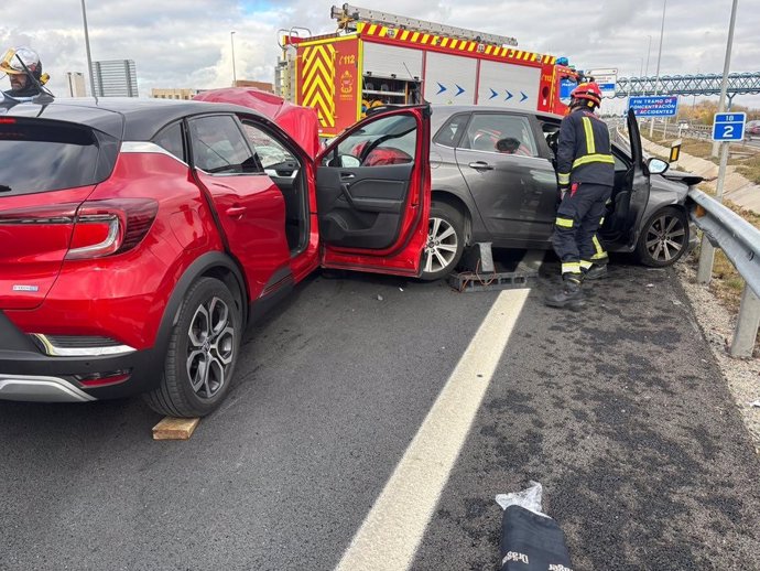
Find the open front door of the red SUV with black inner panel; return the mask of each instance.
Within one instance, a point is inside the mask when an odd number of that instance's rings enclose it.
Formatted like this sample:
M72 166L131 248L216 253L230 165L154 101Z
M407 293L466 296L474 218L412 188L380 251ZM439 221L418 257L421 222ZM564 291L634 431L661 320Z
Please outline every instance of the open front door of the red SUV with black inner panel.
M419 276L430 216L430 106L382 110L317 155L322 266Z

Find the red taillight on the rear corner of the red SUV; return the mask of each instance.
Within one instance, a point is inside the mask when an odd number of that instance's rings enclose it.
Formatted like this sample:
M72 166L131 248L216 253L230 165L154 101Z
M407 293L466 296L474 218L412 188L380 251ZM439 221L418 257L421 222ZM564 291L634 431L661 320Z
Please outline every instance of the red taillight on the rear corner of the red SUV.
M134 248L150 230L159 203L112 198L84 203L76 213L67 260L102 258Z

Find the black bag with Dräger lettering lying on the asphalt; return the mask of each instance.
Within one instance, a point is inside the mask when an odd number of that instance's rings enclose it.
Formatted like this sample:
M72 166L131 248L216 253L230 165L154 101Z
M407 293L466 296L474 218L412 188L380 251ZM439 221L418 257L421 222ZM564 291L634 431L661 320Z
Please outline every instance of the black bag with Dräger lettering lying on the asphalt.
M573 571L560 525L524 507L507 507L501 520L501 571Z

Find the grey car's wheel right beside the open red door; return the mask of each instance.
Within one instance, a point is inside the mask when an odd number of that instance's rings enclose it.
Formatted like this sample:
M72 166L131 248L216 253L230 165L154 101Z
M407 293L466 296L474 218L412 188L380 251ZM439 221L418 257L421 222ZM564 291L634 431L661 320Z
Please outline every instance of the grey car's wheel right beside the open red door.
M464 216L449 204L433 202L420 278L433 281L448 276L459 263L464 249Z

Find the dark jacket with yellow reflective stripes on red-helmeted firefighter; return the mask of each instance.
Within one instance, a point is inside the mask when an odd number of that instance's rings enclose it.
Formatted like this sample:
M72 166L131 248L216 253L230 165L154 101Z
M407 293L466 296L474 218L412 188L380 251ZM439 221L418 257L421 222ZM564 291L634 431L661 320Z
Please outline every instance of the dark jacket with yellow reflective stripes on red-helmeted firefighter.
M609 130L588 108L578 107L562 120L557 141L557 179L561 186L575 182L615 184Z

